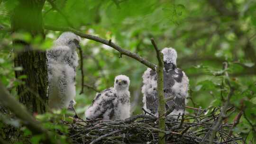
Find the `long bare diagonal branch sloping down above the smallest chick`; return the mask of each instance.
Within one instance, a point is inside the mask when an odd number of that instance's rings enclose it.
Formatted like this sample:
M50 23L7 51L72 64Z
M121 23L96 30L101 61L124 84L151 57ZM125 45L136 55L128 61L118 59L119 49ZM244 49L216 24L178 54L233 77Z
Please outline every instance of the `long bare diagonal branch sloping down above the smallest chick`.
M109 40L100 38L98 36L92 36L92 35L88 35L88 34L84 34L78 30L75 30L71 27L53 27L53 26L45 26L46 29L49 30L54 30L54 31L71 31L74 34L83 37L83 38L87 38L87 39L91 39L93 41L99 42L101 44L104 45L109 45L110 47L114 48L115 50L119 51L120 54L124 54L127 55L137 61L139 61L140 63L143 63L144 65L146 65L147 67L151 68L153 71L155 71L155 67L156 65L153 63L150 63L149 61L147 61L145 58L140 57L138 54L135 53L131 53L128 50L122 49L119 45L114 44L113 42L109 43Z

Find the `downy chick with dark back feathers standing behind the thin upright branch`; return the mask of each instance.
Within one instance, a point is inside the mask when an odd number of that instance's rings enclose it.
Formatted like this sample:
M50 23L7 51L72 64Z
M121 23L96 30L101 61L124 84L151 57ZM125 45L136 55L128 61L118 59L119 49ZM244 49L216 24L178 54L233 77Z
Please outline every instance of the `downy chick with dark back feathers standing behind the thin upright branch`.
M165 99L173 97L173 99L166 101L165 110L174 107L168 116L177 117L183 115L185 111L189 79L185 72L177 68L177 52L174 48L165 47L161 52L164 55L164 96ZM152 69L147 68L142 78L143 108L151 115L158 117L157 74Z

